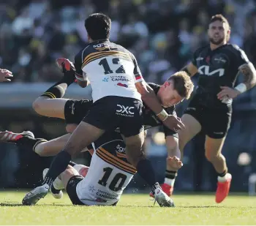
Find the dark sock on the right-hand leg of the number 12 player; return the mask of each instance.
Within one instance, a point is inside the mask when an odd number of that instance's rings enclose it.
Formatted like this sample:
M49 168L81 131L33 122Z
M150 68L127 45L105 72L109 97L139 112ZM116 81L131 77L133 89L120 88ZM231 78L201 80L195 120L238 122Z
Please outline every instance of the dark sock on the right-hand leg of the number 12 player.
M137 171L150 187L157 183L154 169L148 159L141 159L140 162L138 162Z

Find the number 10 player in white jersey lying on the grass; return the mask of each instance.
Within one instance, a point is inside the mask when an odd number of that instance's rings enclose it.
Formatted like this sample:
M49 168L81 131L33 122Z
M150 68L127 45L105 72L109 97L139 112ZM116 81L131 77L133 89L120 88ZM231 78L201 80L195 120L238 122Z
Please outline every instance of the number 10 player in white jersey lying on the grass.
M127 162L124 140L118 132L106 132L94 148L90 167L69 163L53 182L53 189L66 189L74 205L116 206L136 168ZM62 196L62 192L59 194ZM61 196L53 193L53 197Z

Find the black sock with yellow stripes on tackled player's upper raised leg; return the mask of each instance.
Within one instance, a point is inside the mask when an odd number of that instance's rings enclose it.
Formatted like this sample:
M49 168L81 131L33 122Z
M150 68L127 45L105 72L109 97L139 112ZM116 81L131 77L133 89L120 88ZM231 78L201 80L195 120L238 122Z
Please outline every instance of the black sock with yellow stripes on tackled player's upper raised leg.
M75 72L69 71L65 72L64 76L59 80L58 83L55 83L53 86L48 88L41 97L48 97L50 99L61 98L64 96L65 91L69 85L71 85L75 80Z

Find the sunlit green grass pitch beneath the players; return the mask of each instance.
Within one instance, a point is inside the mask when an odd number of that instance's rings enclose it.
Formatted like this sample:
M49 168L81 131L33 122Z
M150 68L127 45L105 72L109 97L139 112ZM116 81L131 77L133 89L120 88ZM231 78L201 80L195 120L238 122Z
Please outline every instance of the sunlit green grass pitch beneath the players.
M0 225L256 225L256 197L175 195L176 208L153 206L148 195L123 195L116 207L72 206L67 194L50 194L37 206L22 206L26 192L0 192Z

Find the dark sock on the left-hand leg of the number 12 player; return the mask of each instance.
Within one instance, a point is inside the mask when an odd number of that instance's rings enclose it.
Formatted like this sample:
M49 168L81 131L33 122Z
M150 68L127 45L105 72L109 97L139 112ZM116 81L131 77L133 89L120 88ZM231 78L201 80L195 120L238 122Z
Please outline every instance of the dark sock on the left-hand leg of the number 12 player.
M48 184L49 187L53 184L53 181L59 176L64 170L67 169L71 155L67 151L61 151L53 159L53 162L50 165L48 173L45 176L45 180L42 184Z

